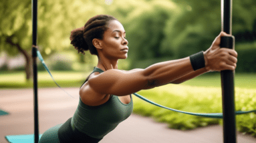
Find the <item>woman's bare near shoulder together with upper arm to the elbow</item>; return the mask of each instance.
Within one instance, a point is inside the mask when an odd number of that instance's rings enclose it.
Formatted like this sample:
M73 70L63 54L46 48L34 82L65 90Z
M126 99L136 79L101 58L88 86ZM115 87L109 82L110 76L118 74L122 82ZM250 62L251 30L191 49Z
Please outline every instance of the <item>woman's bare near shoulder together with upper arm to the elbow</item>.
M108 69L101 74L92 74L82 86L80 96L85 104L103 103L108 101L110 95L126 96L146 89L147 81L144 69Z

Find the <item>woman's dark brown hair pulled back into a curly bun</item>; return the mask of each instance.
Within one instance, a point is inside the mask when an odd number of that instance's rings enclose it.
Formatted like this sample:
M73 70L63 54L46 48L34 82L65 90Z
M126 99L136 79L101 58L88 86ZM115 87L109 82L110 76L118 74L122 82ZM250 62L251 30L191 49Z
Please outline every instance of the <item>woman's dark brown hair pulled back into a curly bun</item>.
M74 29L71 31L71 44L78 49L78 53L90 50L92 55L98 55L96 47L92 44L92 40L103 39L104 32L108 29L108 22L117 20L110 15L96 15L90 18L84 27Z

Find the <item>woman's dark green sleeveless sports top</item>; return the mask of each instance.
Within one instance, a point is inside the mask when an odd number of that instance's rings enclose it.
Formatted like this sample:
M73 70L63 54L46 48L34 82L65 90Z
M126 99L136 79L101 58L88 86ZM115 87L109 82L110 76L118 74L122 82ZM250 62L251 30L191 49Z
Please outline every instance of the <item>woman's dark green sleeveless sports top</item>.
M92 74L94 72L102 73L104 71L94 67ZM87 106L80 99L72 118L72 128L76 128L92 138L103 138L120 122L126 120L132 114L132 109L132 96L129 104L123 104L118 96L111 95L108 102L100 106Z

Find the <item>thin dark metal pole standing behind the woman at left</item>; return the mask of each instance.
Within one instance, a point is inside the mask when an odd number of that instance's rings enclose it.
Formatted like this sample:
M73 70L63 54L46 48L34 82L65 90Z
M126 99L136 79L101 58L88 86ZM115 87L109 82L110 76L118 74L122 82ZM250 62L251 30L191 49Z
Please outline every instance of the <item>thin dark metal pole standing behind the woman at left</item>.
M38 122L38 100L37 100L37 0L32 0L32 59L33 59L33 92L34 92L34 127L35 143L39 142L39 122Z

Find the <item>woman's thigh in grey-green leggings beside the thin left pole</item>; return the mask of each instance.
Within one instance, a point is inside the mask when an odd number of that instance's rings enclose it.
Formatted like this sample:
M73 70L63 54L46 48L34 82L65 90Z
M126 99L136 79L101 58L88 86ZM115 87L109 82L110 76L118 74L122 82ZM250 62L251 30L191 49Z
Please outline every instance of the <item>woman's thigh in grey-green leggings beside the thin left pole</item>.
M49 128L47 131L45 131L41 136L39 143L59 143L57 131L61 125L62 124L58 124L57 126L53 126L52 128Z

